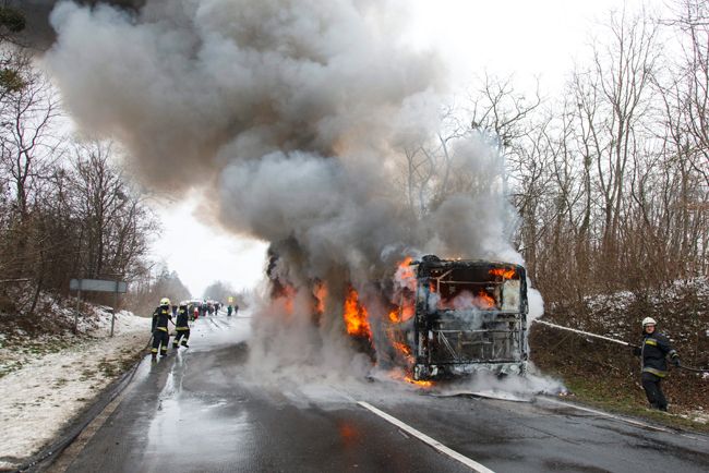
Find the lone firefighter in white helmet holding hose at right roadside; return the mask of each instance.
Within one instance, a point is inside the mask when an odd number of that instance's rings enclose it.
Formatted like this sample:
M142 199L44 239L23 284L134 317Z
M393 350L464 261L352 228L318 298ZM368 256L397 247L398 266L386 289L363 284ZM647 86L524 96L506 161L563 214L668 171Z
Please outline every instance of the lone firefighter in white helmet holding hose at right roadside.
M642 319L642 344L640 348L635 348L634 352L642 359L642 389L645 389L650 407L666 411L668 400L662 393L660 381L668 375L666 357L670 356L672 364L680 366L680 355L672 348L670 340L656 331L656 325L652 317Z

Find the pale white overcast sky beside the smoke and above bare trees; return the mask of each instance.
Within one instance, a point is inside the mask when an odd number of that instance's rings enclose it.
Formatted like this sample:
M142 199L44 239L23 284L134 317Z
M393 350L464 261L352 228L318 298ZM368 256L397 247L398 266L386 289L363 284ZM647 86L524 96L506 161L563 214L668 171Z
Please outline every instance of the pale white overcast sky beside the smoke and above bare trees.
M628 0L630 8L639 1ZM645 2L662 8L664 1ZM416 0L407 40L418 47L435 45L450 64L457 86L488 71L515 74L520 83L540 77L544 90L557 90L573 63L589 45L596 26L618 0ZM155 254L164 258L194 295L215 280L235 289L261 280L266 244L236 238L200 221L194 201L166 205L165 223ZM197 218L195 218L195 216Z

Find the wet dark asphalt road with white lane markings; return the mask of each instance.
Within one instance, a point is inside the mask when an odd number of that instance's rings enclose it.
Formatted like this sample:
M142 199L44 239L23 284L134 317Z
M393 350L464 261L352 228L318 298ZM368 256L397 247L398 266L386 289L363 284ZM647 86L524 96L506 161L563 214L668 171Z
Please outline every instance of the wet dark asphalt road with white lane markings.
M382 380L260 379L244 366L248 324L201 319L190 349L155 364L146 359L104 424L52 471L709 471L707 436L553 399L442 398Z

